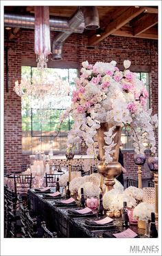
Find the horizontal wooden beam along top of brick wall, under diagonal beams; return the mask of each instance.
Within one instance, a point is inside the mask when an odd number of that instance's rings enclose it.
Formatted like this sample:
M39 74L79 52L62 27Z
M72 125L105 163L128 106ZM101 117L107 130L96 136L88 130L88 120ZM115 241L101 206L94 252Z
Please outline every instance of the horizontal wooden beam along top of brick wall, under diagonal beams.
M145 32L134 36L132 32L132 28L130 27L122 27L119 30L115 31L113 36L127 36L127 37L136 37L141 39L158 39L158 31L156 28L150 28L149 30L146 30Z

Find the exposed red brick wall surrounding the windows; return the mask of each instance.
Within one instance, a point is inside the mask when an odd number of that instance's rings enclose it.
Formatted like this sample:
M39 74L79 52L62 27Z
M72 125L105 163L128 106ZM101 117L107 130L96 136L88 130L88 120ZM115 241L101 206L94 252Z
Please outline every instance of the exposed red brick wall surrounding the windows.
M9 92L5 92L5 165L8 170L19 170L21 163L29 163L29 156L22 155L21 147L21 98L12 91L14 81L21 78L21 64L27 59L29 63L36 63L34 54L34 31L20 30L19 36L8 43L9 54ZM51 42L54 39L54 32L51 32ZM71 34L65 41L62 50L63 60L59 65L71 65L80 67L82 61L89 61L94 64L96 61L117 61L122 65L125 59L129 59L135 66L150 66L150 92L151 107L153 113L158 108L158 55L157 41L148 39L132 39L120 36L109 36L94 47L88 45L88 38L83 34ZM49 56L49 59L51 56ZM76 64L75 64L76 63ZM57 62L54 62L57 66ZM52 62L49 61L49 67ZM68 67L68 66L67 66ZM140 70L139 70L140 71ZM141 68L141 71L142 70ZM6 79L5 79L6 85ZM81 146L81 153L85 153L84 145ZM127 174L137 177L137 166L133 162L133 151L124 151L124 163ZM143 178L150 177L150 172L145 164Z

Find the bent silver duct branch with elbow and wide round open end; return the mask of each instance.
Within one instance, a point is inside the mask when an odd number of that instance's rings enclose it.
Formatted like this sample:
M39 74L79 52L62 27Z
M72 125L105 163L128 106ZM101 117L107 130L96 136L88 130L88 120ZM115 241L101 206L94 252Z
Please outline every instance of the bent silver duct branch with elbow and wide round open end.
M94 6L80 7L76 13L69 20L69 28L73 31L80 27L80 24L84 22L84 28L89 30L96 30L100 28L100 19L97 12L97 8ZM60 32L54 38L52 45L52 57L51 60L62 59L62 43L69 37L73 32Z

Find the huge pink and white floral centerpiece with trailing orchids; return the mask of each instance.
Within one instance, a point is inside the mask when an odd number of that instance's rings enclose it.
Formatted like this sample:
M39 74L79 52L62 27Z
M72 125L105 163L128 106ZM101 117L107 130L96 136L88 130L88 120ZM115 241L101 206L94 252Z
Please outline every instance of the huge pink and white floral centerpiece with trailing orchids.
M136 153L146 149L143 140L147 138L150 150L155 152L155 138L151 116L152 110L146 110L148 92L137 74L130 72L130 61L124 61L124 71L116 67L116 62L97 62L91 65L82 63L80 78L76 78L76 91L73 92L71 107L60 118L69 114L74 123L67 140L67 151L84 138L88 146L87 154L97 156L94 137L102 123L111 124L104 132L104 162L113 161L115 149L113 130L115 127L129 127Z

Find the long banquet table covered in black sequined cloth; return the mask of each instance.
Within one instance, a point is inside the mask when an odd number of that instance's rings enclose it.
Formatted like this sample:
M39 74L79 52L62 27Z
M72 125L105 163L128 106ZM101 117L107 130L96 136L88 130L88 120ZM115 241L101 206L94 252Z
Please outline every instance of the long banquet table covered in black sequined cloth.
M53 199L45 199L40 193L35 193L34 189L28 191L30 209L35 215L40 215L45 220L51 231L56 231L58 237L103 237L103 233L109 231L111 233L120 233L124 231L121 218L114 218L114 227L111 229L95 229L86 227L85 220L87 217L71 217L67 208L54 205ZM79 209L80 207L73 207ZM106 216L105 216L106 217ZM96 217L89 218L95 220ZM135 225L130 225L130 229L138 234L137 237L145 237L145 230Z

